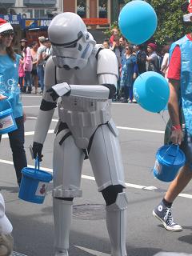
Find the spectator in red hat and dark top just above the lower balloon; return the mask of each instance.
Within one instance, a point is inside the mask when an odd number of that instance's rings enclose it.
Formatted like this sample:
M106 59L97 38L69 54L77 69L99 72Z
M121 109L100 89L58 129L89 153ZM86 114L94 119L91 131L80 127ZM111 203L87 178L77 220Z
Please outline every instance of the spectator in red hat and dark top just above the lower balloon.
M160 63L158 54L156 53L157 45L153 42L150 42L147 45L148 56L146 56L146 70L160 72Z

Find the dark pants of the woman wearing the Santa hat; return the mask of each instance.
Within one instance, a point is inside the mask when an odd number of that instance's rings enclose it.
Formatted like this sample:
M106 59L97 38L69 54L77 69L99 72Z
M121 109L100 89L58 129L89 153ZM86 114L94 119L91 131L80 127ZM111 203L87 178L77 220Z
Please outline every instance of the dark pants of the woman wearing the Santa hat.
M18 126L17 130L10 132L10 148L13 153L14 169L16 172L18 185L20 185L22 179L22 168L27 166L26 151L24 150L24 122L23 117L15 118L15 122ZM2 136L0 135L0 142Z

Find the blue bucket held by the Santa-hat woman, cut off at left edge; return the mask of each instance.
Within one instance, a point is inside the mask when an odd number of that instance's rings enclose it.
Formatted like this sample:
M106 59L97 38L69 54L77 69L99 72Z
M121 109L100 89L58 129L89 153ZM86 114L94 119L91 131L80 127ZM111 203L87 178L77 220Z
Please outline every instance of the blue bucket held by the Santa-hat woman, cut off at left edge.
M7 99L0 101L0 134L7 134L18 127L14 121L13 110Z

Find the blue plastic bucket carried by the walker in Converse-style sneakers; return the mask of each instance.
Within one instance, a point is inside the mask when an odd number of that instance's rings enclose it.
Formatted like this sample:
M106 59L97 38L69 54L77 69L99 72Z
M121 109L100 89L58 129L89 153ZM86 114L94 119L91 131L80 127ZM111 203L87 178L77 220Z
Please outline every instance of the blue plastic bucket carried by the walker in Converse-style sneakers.
M158 149L154 164L154 177L162 182L171 182L184 166L186 156L178 145L165 145Z

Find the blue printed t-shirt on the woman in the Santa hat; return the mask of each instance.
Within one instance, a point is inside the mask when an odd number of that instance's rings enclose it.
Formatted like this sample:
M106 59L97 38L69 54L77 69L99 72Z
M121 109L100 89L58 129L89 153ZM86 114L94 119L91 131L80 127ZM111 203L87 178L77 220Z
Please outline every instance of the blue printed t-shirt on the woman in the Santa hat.
M0 55L0 94L8 97L13 109L14 118L22 116L22 102L20 88L18 87L18 54L15 61L9 55Z

